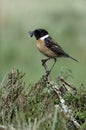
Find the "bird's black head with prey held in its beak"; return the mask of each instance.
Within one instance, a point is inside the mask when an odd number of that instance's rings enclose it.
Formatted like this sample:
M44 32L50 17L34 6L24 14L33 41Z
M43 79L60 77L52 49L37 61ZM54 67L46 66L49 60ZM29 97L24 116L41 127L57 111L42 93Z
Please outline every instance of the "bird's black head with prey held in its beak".
M45 29L36 29L32 32L29 32L30 36L32 37L33 35L35 36L35 38L38 40L41 37L45 36L48 34L48 32Z

